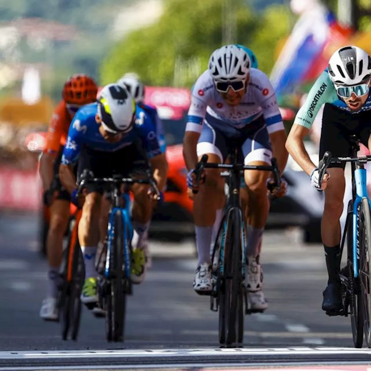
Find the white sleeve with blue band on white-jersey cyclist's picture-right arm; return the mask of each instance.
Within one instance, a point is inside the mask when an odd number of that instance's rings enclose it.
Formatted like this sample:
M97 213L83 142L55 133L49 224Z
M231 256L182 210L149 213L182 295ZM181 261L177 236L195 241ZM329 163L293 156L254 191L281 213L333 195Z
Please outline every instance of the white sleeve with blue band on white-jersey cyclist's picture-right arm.
M257 101L263 110L267 131L269 134L272 134L275 131L285 130L281 112L278 108L275 89L273 89L268 76L260 70L259 72L259 85L262 86L262 89L257 89L256 94Z

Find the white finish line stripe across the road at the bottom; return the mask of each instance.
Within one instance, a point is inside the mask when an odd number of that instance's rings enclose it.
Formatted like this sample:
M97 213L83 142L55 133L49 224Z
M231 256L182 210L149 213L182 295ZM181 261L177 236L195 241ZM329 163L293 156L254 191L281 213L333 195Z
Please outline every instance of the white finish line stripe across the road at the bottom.
M123 349L96 351L20 351L0 352L0 359L58 358L153 358L153 357L224 357L242 355L371 355L371 349L355 348L196 348L196 349Z

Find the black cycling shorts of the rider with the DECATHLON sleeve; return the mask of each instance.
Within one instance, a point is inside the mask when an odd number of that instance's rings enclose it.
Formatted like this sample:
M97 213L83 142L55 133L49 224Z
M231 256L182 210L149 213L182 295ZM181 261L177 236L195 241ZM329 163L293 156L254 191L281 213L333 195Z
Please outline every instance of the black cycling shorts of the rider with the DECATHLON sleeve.
M333 157L348 157L351 155L349 136L356 135L359 141L368 147L370 134L371 111L351 114L326 103L322 117L319 158L321 159L326 151L330 151ZM331 163L329 167L344 169L345 162Z

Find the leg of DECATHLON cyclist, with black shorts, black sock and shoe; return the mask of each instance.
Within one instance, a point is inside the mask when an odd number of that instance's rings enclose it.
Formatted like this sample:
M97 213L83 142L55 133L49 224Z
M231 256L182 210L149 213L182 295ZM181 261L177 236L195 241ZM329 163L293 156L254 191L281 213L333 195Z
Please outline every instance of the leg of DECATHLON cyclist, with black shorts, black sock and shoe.
M345 126L351 122L350 114L339 111L326 104L323 114L321 141L319 145L319 158L326 151L331 151L334 157L349 155L349 143ZM349 132L351 134L351 132ZM326 312L338 312L341 307L340 298L340 216L343 211L343 198L345 191L345 164L330 164L327 188L325 189L325 207L321 222L322 243L325 249L328 283L323 292L322 309Z

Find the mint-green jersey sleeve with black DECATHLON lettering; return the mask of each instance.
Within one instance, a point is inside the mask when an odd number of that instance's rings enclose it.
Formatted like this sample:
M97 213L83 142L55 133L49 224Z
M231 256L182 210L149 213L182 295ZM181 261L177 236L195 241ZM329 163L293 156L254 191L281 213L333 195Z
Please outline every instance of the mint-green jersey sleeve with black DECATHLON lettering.
M325 103L332 103L334 97L336 97L334 85L328 73L324 71L309 91L304 104L295 116L294 124L310 129L321 106Z

